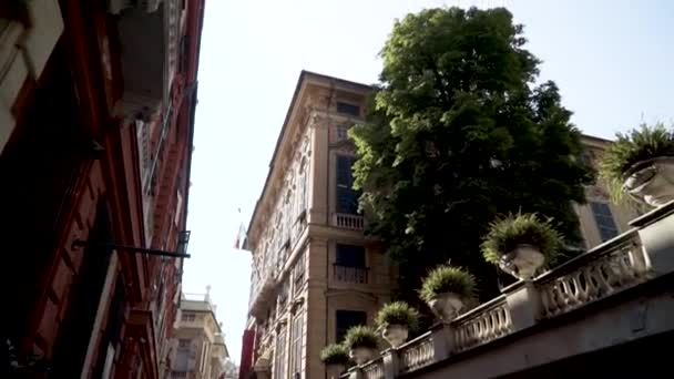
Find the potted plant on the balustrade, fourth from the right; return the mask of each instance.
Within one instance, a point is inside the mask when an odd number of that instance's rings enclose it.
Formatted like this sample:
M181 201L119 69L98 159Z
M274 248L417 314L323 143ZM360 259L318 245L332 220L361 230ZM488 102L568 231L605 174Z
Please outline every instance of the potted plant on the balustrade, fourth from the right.
M376 322L381 337L397 348L407 340L409 331L417 328L419 313L405 301L394 301L379 309Z

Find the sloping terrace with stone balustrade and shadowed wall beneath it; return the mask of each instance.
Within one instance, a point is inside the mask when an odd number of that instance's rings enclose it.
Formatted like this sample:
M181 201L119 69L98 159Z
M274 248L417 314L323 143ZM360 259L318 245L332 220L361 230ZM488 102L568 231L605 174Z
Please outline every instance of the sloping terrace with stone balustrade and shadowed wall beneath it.
M631 225L341 378L654 377L667 359L653 341L674 337L674 202Z

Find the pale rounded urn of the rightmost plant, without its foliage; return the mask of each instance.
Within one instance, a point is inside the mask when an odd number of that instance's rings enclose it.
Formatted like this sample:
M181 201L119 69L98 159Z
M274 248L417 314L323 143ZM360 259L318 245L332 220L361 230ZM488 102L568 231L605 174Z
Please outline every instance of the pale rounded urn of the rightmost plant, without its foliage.
M627 170L622 190L657 207L674 199L674 157L663 156L636 163Z

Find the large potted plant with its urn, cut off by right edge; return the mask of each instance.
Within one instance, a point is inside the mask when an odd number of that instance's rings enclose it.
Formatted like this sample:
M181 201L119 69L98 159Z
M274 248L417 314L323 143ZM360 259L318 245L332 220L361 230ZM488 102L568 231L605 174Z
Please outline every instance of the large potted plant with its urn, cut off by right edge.
M674 199L674 132L657 123L616 134L599 164L614 199L627 193L651 206Z

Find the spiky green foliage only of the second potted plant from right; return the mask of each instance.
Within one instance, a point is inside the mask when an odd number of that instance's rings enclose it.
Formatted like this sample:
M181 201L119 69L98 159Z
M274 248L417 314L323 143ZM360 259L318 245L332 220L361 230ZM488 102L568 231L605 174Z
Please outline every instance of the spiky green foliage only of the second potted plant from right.
M484 259L494 265L499 264L503 255L524 244L538 247L545 260L552 263L563 246L563 240L552 218L542 219L535 213L518 213L492 222L481 248Z

